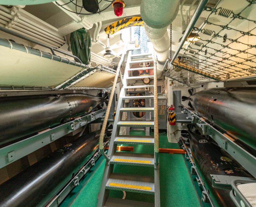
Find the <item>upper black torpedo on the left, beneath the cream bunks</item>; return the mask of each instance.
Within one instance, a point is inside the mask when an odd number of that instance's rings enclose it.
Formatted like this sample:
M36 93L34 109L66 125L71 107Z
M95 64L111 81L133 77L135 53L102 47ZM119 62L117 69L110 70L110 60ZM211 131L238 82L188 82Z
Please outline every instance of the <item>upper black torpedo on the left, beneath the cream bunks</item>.
M47 94L0 98L0 145L91 113L105 101L88 94Z

